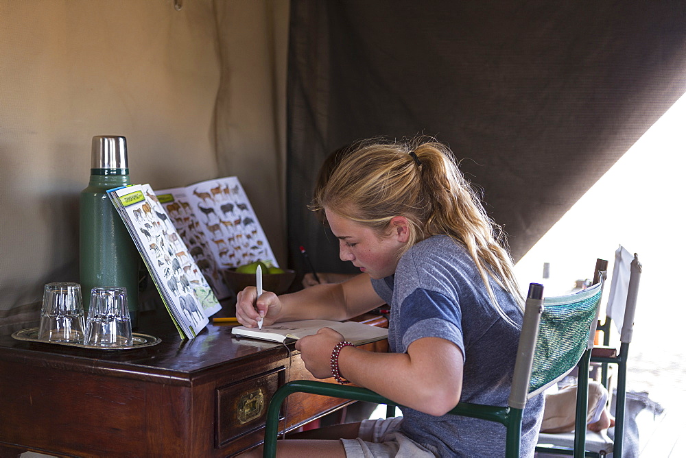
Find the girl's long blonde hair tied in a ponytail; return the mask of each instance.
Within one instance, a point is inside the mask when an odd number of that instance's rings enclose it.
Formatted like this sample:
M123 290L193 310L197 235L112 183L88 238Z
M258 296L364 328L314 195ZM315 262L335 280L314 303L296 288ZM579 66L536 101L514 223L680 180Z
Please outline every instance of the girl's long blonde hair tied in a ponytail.
M432 235L449 235L473 258L494 304L488 277L520 306L523 302L501 228L486 215L450 149L433 138L361 143L318 188L309 206L314 211L324 207L379 234L388 230L392 217L407 218L410 239L405 251Z

